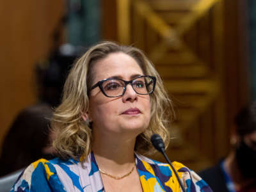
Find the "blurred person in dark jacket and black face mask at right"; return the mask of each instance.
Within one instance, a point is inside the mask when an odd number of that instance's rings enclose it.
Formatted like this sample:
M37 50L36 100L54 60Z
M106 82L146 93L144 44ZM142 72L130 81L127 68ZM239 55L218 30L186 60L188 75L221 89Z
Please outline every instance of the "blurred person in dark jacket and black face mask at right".
M199 173L218 192L256 191L256 102L241 109L235 118L232 149L216 166Z

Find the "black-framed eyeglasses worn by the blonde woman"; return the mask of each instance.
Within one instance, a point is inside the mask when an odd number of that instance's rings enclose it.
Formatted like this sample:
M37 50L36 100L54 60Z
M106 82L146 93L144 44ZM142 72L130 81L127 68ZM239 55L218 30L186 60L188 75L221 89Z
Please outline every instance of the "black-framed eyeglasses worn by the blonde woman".
M120 97L124 95L127 84L131 84L134 92L140 95L148 95L154 92L156 86L156 77L138 76L131 81L111 77L108 79L103 79L102 81L94 84L92 88L88 90L88 93L99 86L100 91L106 97Z

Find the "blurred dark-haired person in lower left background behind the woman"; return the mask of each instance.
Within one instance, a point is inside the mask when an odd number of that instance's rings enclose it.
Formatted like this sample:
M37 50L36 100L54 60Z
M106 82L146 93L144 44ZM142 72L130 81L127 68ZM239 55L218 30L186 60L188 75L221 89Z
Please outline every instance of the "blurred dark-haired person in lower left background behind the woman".
M51 116L48 104L31 106L19 113L4 138L0 176L25 168L38 158L51 159Z

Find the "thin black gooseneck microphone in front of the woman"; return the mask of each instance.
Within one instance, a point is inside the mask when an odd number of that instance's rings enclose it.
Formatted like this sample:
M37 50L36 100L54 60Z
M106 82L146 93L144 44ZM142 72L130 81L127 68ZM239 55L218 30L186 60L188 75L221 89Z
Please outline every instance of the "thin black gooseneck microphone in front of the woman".
M177 178L177 180L179 181L179 184L180 184L180 188L182 189L183 192L186 192L185 191L185 188L184 186L182 185L180 179L179 179L179 176L177 174L177 172L175 171L175 169L173 168L173 165L172 165L172 162L170 161L170 159L168 158L168 156L166 155L165 153L165 150L164 150L164 142L161 138L161 136L159 136L159 134L153 134L150 138L150 141L152 143L152 145L154 146L154 148L156 148L156 150L158 150L159 152L161 152L161 154L163 154L164 158L166 159L166 161L170 164L170 166L172 167L172 170Z

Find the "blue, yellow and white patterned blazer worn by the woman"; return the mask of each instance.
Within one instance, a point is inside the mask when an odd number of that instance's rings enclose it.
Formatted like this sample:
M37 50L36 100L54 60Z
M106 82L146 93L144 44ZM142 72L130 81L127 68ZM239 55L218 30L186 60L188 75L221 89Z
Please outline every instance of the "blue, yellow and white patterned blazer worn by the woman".
M179 182L169 164L159 163L138 154L135 156L143 191L181 191ZM187 192L212 191L204 180L183 164L173 162L173 166ZM86 161L74 159L62 161L59 158L50 161L45 159L35 161L20 175L11 191L98 192L104 191L104 186L97 162L91 152Z

